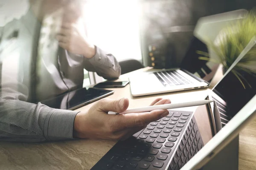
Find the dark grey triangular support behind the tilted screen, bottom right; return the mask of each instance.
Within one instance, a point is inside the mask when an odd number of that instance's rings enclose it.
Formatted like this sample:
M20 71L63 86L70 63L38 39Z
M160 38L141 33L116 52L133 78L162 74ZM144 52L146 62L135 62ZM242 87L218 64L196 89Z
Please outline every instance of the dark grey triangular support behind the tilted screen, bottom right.
M239 136L233 139L200 170L238 170Z

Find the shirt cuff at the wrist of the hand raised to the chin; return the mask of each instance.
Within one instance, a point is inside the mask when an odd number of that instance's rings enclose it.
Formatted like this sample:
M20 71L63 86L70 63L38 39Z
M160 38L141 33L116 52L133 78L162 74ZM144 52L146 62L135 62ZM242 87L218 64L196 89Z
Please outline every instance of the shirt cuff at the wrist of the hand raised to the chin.
M95 46L96 48L96 54L88 59L88 61L92 64L92 65L107 65L109 68L113 68L113 64L111 62L106 62L107 60L107 54L105 51L103 51L102 49L98 48L97 46Z

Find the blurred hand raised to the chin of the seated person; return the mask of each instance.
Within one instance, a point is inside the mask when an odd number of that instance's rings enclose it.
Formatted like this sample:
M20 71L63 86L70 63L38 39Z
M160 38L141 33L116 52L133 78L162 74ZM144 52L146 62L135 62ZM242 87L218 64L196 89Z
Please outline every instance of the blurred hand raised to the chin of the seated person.
M95 46L88 42L85 34L79 31L77 24L64 23L56 39L59 45L70 53L83 55L88 59L96 54Z

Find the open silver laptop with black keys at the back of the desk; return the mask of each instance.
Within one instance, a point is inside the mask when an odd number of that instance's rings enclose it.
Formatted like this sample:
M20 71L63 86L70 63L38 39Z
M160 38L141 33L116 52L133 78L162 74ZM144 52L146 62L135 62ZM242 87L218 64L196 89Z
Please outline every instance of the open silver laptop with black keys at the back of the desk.
M219 65L214 62L198 59L202 55L198 54L197 51L210 52L210 56L215 57L211 51L208 51L205 37L209 37L212 41L215 40L218 32L227 23L233 23L241 19L246 13L246 10L237 10L203 17L198 20L194 37L181 62L180 68L151 69L129 77L132 96L145 96L209 87ZM215 26L214 31L209 33L212 25ZM154 54L154 51L151 52Z

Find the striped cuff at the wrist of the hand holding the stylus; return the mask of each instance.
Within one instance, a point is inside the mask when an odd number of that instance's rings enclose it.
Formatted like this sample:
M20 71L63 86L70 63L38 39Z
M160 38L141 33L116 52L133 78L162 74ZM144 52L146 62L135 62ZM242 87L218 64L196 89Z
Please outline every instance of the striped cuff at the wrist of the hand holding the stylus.
M48 113L44 122L44 136L49 141L74 139L73 125L76 111L55 109Z

